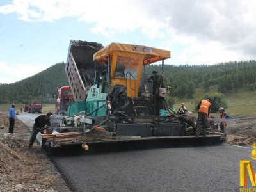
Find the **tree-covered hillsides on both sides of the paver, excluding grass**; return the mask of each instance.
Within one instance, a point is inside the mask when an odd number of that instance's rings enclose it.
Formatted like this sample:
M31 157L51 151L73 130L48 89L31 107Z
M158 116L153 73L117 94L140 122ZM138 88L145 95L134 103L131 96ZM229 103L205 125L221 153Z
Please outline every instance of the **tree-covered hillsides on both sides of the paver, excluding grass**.
M57 87L68 85L65 63L58 63L47 70L12 84L0 84L0 103L41 100L53 102L52 93ZM150 65L147 72L161 72L161 65ZM196 88L216 85L220 93L236 93L241 88L256 89L256 61L220 63L218 65L165 65L166 83L171 87L169 97L193 98Z

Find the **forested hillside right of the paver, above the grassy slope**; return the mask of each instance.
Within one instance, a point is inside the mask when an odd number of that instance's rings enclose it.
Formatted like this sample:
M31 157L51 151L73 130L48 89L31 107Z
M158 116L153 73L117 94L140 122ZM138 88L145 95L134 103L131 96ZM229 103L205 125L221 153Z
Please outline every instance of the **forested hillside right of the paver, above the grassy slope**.
M148 71L161 71L161 65L148 66ZM240 88L256 89L256 61L220 63L218 65L165 65L166 83L171 86L170 96L193 98L195 88L204 88L205 93L212 85L220 93L233 93Z

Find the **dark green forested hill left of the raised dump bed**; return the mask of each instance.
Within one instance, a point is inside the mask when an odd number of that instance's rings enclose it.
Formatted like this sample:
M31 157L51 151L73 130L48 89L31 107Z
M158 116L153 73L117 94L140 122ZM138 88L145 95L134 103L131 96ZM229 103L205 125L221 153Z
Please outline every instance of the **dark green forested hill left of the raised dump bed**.
M64 67L65 63L58 63L22 81L0 84L0 103L54 102L52 93L56 88L68 85Z

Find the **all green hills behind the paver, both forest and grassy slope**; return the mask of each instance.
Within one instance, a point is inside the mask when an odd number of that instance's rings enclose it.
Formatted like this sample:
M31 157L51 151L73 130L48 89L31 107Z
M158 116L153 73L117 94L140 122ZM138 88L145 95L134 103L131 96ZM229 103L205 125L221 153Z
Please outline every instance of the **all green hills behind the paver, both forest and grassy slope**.
M0 84L0 103L26 103L40 100L52 103L56 88L68 85L65 63L58 63L35 76L12 84ZM161 72L161 65L149 65L147 73ZM256 61L236 61L218 65L165 65L166 84L171 87L168 100L175 108L186 102L193 111L207 93L223 93L232 115L256 115Z

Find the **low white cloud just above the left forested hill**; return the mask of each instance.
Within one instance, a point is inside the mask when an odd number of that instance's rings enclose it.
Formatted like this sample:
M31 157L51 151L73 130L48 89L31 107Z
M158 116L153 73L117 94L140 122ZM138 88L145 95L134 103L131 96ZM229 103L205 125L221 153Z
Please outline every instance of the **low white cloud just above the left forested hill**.
M47 67L45 65L24 65L15 64L10 65L3 61L0 61L0 83L15 83L20 79L26 79L33 76Z

